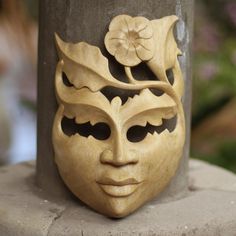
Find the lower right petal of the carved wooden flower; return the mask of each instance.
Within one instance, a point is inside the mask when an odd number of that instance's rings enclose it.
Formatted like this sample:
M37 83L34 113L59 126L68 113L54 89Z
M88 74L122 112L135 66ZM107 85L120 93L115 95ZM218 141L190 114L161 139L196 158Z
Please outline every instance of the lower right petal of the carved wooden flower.
M154 41L153 39L137 39L136 53L140 60L148 61L154 55Z

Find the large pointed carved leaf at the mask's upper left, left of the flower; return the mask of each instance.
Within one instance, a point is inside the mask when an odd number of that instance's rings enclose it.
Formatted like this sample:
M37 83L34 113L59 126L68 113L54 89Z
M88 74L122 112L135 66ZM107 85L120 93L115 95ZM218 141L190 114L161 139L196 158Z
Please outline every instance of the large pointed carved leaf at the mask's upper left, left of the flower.
M58 54L63 60L63 71L78 89L88 87L92 91L113 83L119 83L110 73L108 60L98 47L85 42L66 43L55 34Z

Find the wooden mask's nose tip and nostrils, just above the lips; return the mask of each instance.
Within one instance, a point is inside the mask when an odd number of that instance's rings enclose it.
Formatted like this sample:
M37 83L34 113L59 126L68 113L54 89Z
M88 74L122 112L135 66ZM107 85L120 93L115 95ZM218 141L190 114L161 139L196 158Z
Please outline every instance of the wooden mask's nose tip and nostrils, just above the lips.
M122 144L120 138L115 143L113 151L106 149L101 153L100 162L102 164L121 167L128 164L137 164L138 155L135 151L125 150L124 144Z

